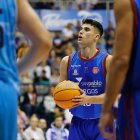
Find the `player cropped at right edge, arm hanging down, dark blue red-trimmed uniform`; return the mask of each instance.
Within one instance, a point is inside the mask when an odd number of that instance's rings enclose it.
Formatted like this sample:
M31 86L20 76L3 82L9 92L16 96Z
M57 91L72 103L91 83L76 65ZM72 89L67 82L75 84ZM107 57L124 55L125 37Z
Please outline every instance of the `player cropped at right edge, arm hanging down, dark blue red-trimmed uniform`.
M114 55L99 126L105 137L112 137L105 128L111 116L110 108L122 90L117 121L119 140L140 140L140 1L115 0L115 16Z

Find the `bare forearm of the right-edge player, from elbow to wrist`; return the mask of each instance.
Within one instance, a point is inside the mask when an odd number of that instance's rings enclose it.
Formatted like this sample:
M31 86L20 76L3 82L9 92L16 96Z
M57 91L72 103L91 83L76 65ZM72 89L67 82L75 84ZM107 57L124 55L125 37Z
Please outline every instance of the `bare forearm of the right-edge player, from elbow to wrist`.
M109 112L123 86L128 70L128 61L113 58L107 77L106 96L103 113Z

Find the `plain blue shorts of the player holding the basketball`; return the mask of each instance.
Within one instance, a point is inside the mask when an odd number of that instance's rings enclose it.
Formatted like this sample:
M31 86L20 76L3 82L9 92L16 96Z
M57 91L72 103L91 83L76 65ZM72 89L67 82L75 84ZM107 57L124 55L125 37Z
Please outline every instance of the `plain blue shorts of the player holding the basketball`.
M98 127L99 119L73 117L68 140L107 140Z

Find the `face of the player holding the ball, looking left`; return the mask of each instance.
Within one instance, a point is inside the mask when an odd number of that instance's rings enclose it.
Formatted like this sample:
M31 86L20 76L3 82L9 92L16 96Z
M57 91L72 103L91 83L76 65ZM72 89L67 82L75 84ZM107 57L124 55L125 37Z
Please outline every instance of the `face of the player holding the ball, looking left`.
M99 33L97 32L97 29L95 29L90 24L83 24L81 26L81 30L78 35L78 43L80 45L89 46L97 42L97 39L99 39Z

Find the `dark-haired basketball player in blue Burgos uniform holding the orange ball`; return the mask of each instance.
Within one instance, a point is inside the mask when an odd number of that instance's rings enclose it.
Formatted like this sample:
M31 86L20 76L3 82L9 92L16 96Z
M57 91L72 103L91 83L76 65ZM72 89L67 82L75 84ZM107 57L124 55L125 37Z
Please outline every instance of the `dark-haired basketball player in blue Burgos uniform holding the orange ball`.
M78 35L79 51L64 57L60 64L60 82L70 80L78 83L92 100L91 104L82 104L70 110L73 118L69 140L105 140L100 134L98 122L111 56L96 49L102 34L103 27L99 22L84 19Z

